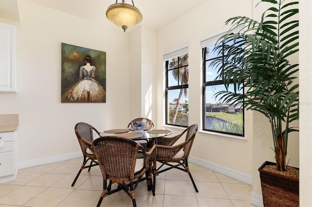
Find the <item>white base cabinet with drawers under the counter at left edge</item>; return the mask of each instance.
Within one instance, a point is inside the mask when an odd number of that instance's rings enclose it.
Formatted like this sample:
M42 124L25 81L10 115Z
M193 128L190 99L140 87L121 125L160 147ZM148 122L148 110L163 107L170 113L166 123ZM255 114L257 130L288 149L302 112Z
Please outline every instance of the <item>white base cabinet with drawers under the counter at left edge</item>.
M0 183L16 179L18 132L0 132Z

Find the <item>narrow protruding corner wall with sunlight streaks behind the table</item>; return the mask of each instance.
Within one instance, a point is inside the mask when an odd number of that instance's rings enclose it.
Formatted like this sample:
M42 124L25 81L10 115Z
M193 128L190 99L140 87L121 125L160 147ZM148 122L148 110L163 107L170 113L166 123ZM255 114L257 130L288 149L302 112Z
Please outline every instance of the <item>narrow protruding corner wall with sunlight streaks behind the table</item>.
M130 34L130 117L156 122L156 33L138 27Z

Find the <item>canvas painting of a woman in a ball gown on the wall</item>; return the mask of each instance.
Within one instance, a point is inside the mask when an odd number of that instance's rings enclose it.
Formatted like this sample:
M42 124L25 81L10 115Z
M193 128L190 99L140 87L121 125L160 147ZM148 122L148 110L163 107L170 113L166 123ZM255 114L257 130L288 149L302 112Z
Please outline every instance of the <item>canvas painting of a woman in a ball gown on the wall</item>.
M106 52L61 44L61 103L106 103Z

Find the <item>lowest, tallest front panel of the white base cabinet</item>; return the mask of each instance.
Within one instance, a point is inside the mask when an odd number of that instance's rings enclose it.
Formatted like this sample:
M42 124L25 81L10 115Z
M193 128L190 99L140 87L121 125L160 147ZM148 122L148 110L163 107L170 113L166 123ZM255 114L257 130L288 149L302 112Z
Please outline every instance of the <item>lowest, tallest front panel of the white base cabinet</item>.
M0 153L0 177L14 174L14 152Z

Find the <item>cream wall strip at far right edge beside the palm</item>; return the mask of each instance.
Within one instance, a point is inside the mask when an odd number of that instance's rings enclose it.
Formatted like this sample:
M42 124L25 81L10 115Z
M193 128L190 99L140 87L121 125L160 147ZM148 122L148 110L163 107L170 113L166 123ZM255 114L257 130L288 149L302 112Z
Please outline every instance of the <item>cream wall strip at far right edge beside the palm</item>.
M299 2L300 206L312 206L312 1Z

